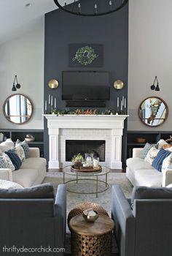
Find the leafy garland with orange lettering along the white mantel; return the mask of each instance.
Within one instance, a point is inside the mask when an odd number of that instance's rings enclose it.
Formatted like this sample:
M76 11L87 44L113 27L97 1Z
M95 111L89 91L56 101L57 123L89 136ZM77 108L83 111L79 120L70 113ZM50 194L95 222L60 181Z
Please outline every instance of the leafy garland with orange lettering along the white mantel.
M126 112L126 110L125 110ZM77 108L77 110L57 110L57 109L53 109L50 111L46 111L45 114L55 114L55 115L126 115L127 113L122 112L122 111L117 111L117 110L93 110L93 109L79 109Z

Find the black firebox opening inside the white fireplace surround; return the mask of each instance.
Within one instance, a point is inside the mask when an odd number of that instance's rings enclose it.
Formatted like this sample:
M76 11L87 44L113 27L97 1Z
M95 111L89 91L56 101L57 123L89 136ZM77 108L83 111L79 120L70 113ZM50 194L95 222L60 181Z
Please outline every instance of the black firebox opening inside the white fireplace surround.
M66 140L66 161L77 154L94 153L100 162L105 162L105 140Z

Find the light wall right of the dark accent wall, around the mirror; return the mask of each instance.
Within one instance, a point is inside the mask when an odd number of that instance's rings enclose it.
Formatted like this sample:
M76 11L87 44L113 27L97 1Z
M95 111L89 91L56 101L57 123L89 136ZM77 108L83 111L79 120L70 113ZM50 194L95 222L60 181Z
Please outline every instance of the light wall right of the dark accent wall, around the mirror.
M172 1L129 0L129 130L171 130ZM160 91L150 86L157 75ZM146 127L138 118L138 106L146 97L157 96L169 108L160 127Z

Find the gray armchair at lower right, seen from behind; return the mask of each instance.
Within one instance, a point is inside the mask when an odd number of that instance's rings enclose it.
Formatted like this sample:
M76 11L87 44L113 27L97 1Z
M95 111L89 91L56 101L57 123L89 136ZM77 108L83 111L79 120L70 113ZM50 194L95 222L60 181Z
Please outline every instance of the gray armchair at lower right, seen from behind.
M135 189L132 210L120 187L112 187L112 219L120 256L171 256L172 189Z

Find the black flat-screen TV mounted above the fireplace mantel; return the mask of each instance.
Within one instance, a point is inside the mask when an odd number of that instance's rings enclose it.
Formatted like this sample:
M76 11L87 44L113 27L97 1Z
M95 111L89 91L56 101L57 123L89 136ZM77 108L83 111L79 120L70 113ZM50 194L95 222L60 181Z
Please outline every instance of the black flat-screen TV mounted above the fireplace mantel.
M109 72L63 71L62 99L106 101L110 97Z

